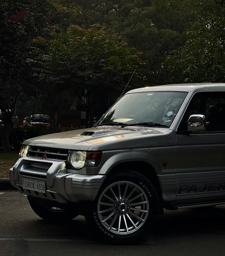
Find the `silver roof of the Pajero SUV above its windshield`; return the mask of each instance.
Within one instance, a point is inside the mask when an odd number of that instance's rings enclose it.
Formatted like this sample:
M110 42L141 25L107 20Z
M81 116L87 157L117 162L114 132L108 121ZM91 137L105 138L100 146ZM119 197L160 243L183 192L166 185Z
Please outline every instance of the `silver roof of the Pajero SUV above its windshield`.
M225 83L177 83L173 85L143 87L128 91L127 93L148 91L225 91Z

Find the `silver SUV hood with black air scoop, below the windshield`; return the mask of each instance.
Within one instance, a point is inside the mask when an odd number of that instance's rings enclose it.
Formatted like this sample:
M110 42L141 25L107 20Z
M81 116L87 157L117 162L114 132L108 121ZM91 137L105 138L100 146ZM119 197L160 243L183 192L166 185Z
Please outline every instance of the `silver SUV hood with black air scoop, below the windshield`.
M167 133L163 128L116 128L93 127L72 130L69 132L52 133L24 141L26 145L65 148L73 150L110 150L116 148L144 147L146 136L155 137ZM151 139L153 144L156 139Z

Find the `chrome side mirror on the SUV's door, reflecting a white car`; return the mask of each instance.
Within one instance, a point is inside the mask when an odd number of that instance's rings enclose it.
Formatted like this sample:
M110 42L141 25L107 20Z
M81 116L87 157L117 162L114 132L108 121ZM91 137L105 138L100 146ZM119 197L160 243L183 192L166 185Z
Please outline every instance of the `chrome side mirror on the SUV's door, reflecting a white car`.
M204 115L191 115L188 119L188 132L197 133L206 130L206 117Z

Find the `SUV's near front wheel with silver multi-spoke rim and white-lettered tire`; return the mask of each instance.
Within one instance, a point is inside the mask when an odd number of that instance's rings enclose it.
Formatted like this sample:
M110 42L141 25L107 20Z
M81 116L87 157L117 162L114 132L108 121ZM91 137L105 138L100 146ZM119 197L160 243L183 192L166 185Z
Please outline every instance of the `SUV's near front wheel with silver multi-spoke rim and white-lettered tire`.
M159 199L152 183L136 171L118 170L107 177L95 201L86 210L85 218L108 241L130 244L143 238L149 226L155 224L158 214Z

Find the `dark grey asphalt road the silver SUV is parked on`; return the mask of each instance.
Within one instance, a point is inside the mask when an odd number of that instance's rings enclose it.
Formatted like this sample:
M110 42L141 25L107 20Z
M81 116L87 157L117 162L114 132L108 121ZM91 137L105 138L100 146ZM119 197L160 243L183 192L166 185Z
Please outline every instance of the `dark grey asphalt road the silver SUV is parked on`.
M3 193L3 194L2 194ZM165 211L141 244L109 245L81 216L64 223L41 220L19 192L0 191L0 256L225 255L225 206Z

